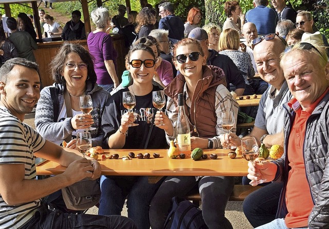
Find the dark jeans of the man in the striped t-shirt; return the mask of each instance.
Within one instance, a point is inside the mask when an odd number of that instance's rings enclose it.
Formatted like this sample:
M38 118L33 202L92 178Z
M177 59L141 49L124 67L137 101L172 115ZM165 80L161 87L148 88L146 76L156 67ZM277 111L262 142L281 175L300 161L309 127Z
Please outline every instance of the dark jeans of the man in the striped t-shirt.
M34 217L22 229L105 229L131 228L137 229L131 219L122 216L98 216L87 214L62 213L51 211L46 203L42 204Z

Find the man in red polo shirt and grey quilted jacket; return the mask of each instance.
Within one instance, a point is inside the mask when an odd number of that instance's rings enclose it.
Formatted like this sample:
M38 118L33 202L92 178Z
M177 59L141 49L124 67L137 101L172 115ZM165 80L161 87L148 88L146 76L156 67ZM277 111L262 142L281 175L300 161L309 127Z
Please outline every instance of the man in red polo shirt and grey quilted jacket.
M316 44L300 43L283 55L280 64L295 97L285 107L285 154L272 162L249 162L248 178L282 179L285 185L277 219L257 228L328 228L327 56Z

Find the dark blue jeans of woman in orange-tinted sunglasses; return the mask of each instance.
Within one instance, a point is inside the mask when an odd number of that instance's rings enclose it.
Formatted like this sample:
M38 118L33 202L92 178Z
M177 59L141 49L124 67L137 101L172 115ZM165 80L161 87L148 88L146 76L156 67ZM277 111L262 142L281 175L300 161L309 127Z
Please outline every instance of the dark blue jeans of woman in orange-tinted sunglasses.
M161 182L151 184L147 176L102 176L98 214L121 215L127 198L128 217L138 229L150 229L150 202Z

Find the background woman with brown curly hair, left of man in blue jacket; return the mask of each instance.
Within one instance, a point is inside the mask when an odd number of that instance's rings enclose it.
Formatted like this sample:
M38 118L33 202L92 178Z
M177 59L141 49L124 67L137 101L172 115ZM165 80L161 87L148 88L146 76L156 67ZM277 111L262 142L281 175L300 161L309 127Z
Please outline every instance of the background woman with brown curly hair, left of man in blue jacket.
M151 30L155 29L154 24L156 23L156 12L154 9L148 7L143 8L137 15L136 18L136 34L138 39L144 36L148 36Z

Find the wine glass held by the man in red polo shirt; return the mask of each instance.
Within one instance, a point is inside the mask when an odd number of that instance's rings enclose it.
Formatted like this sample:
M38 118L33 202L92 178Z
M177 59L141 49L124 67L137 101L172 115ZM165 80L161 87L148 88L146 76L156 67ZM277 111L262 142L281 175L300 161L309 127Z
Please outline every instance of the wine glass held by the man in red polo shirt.
M257 163L257 158L259 155L259 147L257 141L254 137L248 137L241 140L242 147L242 157L247 161L251 161L252 163ZM252 186L256 186L258 184L262 184L266 181L266 179L261 179L258 181L250 181L249 184Z

